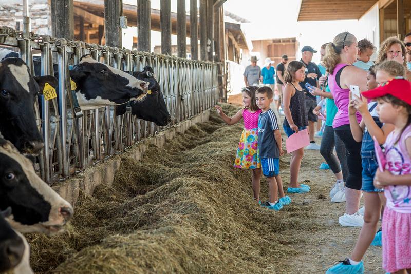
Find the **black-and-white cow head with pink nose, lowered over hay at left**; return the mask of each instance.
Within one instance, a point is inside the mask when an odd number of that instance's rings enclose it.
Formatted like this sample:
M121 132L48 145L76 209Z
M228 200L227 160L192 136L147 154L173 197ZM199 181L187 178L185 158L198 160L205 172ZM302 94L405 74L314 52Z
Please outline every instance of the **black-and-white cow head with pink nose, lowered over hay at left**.
M2 138L0 163L0 210L11 207L11 226L20 232L60 231L72 217L71 205L35 173L25 156Z

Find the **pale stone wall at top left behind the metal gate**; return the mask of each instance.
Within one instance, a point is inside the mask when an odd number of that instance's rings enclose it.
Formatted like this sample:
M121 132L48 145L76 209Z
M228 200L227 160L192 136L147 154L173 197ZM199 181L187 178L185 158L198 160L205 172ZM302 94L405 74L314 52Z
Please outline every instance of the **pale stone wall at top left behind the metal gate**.
M47 0L29 1L31 31L40 35L51 35L51 8ZM23 30L23 1L0 1L0 26L16 29L16 21L20 21Z

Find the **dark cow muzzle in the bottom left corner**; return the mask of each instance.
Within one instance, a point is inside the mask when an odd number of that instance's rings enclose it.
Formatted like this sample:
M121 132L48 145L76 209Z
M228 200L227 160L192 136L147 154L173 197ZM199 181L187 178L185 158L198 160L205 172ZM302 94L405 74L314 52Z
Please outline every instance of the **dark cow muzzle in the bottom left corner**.
M14 231L5 218L11 208L0 212L0 272L11 270L22 262L27 243L20 233ZM18 233L18 234L17 234ZM28 246L27 246L28 247Z

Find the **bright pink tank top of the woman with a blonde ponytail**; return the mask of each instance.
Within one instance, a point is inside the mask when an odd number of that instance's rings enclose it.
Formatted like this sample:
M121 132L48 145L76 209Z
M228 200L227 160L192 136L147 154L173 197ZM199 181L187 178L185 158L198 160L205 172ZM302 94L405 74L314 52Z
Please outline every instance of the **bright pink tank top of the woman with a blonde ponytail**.
M349 125L350 119L348 115L348 103L349 103L349 89L343 89L337 85L335 81L335 76L338 71L348 64L340 63L334 68L334 73L328 76L328 87L331 90L331 94L334 97L335 105L338 108L337 114L335 114L334 121L332 122L332 127L337 128L343 125ZM361 122L361 114L357 112L358 123Z

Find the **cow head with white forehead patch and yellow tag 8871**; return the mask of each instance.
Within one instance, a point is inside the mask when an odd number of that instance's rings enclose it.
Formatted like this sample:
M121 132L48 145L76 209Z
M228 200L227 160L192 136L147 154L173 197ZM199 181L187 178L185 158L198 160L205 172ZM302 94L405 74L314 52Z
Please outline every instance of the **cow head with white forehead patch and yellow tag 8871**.
M0 62L0 132L21 152L34 154L43 148L34 100L46 82L57 86L53 76L33 77L20 58Z

